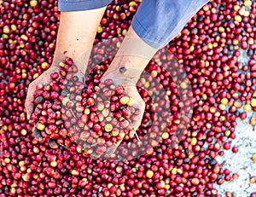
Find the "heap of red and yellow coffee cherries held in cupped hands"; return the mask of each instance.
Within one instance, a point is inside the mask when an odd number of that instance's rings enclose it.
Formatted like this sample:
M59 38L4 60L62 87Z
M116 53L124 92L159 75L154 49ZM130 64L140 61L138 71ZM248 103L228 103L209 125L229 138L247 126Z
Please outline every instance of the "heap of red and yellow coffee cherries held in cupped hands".
M124 95L125 84L116 87L110 78L99 86L85 84L72 59L58 68L50 74L49 84L38 84L34 92L31 122L38 140L46 138L52 148L68 148L75 142L86 150L84 154L101 156L134 135L131 120L140 112Z

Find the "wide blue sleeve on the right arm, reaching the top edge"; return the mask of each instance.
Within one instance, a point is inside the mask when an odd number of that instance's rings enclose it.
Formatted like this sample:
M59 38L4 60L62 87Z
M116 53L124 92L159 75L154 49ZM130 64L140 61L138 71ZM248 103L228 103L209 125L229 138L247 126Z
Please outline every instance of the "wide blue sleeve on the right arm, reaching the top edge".
M208 0L143 0L131 26L155 49L169 43Z

